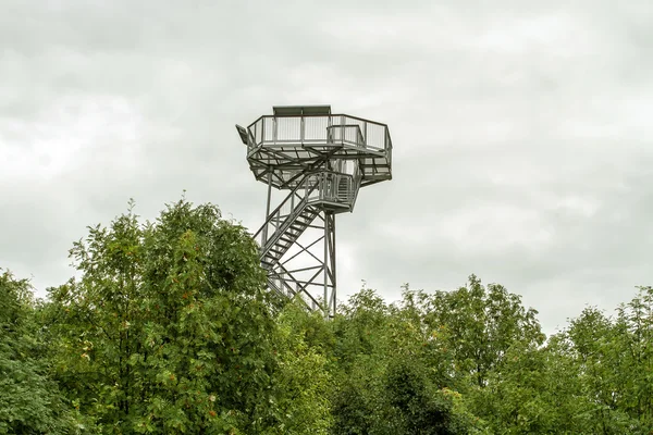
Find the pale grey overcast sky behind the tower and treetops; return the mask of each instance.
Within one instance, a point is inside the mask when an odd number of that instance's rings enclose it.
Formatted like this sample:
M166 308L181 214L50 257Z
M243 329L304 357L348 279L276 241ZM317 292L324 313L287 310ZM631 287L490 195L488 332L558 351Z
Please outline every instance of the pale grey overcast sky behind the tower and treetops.
M266 186L234 124L331 104L390 126L389 183L338 216L361 279L476 273L547 332L652 284L653 3L0 0L0 268L42 293L128 198L252 231Z

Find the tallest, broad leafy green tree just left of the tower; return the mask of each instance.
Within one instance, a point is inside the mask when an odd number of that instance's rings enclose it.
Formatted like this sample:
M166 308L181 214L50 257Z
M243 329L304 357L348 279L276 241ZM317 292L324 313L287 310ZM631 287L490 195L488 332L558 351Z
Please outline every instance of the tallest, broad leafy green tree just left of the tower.
M50 290L60 384L103 433L252 433L273 424L273 319L256 244L211 204L140 224L131 203Z

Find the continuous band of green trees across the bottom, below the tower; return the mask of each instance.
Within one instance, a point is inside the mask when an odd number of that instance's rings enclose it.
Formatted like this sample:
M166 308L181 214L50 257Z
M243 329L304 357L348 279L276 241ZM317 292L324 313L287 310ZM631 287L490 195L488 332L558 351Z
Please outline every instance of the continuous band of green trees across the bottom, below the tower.
M653 289L549 338L471 276L362 289L324 321L264 290L257 247L210 204L132 208L35 300L0 271L0 434L649 434Z

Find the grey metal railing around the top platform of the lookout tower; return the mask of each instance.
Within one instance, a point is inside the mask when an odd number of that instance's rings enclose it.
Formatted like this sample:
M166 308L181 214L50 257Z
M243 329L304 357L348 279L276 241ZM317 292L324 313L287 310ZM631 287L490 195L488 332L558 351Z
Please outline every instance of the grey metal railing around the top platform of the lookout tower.
M261 145L347 144L390 152L392 140L385 124L344 114L315 116L263 115L249 127L248 148Z

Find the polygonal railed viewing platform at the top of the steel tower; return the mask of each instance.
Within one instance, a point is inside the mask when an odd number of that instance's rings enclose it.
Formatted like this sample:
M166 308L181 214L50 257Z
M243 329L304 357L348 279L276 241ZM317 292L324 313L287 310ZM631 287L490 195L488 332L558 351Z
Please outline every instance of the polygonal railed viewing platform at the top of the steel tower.
M392 179L387 125L333 114L330 105L274 107L236 128L256 179L278 189L295 189L319 171L349 175L359 187Z

